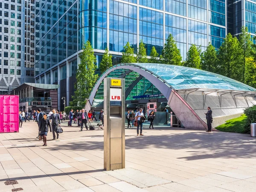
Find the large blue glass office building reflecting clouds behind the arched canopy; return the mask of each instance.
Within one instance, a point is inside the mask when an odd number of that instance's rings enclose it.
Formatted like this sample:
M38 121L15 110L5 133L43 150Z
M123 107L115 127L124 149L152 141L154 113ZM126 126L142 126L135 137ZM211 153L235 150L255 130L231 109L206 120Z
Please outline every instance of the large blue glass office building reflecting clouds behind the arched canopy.
M160 54L172 33L183 59L191 44L219 48L227 34L225 0L38 0L35 6L35 82L60 84L58 100L69 104L78 54L89 40L97 65L106 47L119 62L127 41ZM62 104L59 104L62 105ZM64 106L59 106L63 108Z

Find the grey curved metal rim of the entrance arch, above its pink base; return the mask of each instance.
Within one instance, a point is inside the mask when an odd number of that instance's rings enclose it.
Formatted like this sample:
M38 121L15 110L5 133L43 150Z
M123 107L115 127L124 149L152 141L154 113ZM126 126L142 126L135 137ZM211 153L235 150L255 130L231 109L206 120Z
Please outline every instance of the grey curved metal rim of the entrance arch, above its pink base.
M134 71L134 72L139 73L141 76L145 77L149 81L154 82L152 84L154 84L154 86L157 87L157 89L160 90L160 92L166 98L169 98L169 96L172 93L172 87L165 80L163 80L162 78L157 76L155 73L152 73L151 71L145 69L144 67L138 66L136 64L119 64L119 65L115 65L115 66L109 68L108 70L105 71L105 73L103 73L99 77L99 79L94 84L93 89L92 89L92 91L90 93L89 103L87 102L88 105L91 106L93 104L93 99L94 99L94 97L95 97L95 95L97 93L97 90L98 90L100 84L104 80L104 78L106 76L108 76L109 73L111 73L112 71L117 70L117 69L128 69L128 71L131 70L130 72Z

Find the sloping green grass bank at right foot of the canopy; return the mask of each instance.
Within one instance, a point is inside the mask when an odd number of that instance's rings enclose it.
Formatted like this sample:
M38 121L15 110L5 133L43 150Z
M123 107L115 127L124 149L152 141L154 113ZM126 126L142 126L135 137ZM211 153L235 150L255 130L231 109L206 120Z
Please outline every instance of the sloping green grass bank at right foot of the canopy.
M230 133L247 133L247 130L244 128L246 125L247 118L243 114L238 118L230 119L226 121L226 123L219 125L216 127L216 129L224 132L230 132Z

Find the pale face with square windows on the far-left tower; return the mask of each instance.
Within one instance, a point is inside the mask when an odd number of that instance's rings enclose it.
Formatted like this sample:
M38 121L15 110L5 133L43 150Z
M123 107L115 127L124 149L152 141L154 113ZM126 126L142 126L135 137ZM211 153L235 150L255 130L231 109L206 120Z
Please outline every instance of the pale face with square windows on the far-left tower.
M0 2L0 94L20 85L24 65L24 1Z

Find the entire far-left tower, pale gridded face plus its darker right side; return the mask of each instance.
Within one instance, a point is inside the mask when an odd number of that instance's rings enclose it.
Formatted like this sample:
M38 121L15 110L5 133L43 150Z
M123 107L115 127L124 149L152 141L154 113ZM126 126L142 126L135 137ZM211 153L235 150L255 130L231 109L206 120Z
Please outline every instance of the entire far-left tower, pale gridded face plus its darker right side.
M0 94L34 82L35 0L0 2Z

